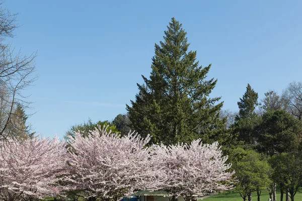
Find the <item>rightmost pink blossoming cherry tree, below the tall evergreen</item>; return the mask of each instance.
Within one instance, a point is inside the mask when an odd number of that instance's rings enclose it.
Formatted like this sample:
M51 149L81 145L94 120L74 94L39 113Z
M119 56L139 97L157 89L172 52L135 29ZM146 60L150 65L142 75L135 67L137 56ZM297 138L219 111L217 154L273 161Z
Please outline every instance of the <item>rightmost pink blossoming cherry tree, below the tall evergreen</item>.
M167 180L161 188L172 194L172 199L182 195L186 201L194 195L203 195L213 190L229 189L233 173L231 164L222 156L218 143L201 144L195 140L190 145L177 144L155 146L157 156L164 161Z

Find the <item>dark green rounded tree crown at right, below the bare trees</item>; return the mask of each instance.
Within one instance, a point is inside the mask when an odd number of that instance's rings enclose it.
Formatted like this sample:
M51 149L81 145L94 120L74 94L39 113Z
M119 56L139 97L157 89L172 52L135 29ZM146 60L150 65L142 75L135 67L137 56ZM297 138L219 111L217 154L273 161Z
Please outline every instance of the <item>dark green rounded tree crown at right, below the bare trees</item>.
M263 114L257 134L257 148L261 152L295 152L302 137L302 123L284 110L270 110Z

